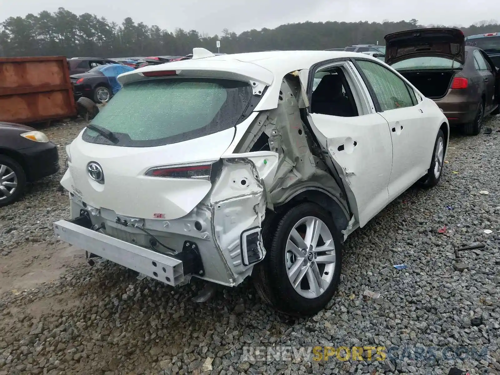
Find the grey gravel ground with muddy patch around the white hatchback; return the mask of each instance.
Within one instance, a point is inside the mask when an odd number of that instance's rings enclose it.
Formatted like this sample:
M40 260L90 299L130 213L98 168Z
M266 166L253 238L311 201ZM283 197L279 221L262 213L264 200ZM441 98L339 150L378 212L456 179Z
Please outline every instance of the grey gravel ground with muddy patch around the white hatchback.
M43 130L61 165L83 125ZM339 291L310 319L275 314L250 284L198 304L199 282L174 289L108 262L89 267L53 240L67 196L62 172L44 179L0 209L0 375L447 374L452 366L500 374L500 116L484 127L492 133L452 134L437 187L410 188L352 234ZM474 242L485 248L455 259L455 248ZM407 269L392 266L400 263ZM245 345L395 348L383 361L255 361L242 356ZM442 353L457 347L479 356Z

